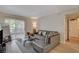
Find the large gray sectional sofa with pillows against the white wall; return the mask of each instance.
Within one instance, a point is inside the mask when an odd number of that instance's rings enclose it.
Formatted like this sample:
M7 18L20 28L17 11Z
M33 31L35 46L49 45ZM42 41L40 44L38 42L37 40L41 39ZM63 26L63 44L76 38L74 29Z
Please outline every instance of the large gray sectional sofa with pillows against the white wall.
M39 30L34 37L37 39L32 42L32 46L40 53L49 52L60 43L60 34L57 31Z

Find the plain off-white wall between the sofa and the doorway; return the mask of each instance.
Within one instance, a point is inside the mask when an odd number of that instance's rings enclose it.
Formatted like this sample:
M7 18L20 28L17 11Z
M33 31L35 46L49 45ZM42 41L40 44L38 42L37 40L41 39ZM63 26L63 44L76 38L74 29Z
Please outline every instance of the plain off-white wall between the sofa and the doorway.
M64 43L64 15L49 15L38 20L38 27L41 30L58 31L61 43Z

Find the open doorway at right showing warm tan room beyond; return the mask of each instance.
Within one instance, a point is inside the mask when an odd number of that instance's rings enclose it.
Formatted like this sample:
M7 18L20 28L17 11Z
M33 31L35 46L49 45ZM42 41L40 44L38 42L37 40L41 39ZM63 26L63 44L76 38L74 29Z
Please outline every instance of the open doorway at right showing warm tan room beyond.
M79 16L78 14L66 17L66 42L79 44Z

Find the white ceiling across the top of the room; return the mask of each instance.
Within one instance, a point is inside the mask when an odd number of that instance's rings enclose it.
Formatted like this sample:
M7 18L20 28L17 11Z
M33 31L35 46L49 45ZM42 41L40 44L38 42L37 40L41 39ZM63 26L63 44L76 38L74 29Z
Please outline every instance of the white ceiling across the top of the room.
M77 5L0 5L0 12L27 17L42 17L79 8Z

